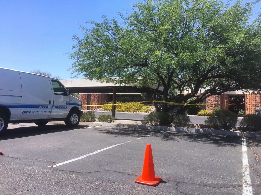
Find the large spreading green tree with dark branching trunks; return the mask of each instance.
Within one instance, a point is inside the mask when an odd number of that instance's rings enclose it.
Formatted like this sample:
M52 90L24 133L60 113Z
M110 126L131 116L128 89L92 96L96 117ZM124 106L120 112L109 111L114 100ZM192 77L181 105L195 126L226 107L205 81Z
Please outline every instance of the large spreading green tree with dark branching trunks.
M69 55L71 70L88 78L138 87L170 89L176 102L203 101L226 91L261 89L261 20L254 4L218 0L147 0L133 5L123 22L104 17L81 26L83 37ZM201 88L206 89L197 95ZM183 91L189 89L187 95ZM169 111L177 105L156 105ZM179 106L183 112L185 106Z

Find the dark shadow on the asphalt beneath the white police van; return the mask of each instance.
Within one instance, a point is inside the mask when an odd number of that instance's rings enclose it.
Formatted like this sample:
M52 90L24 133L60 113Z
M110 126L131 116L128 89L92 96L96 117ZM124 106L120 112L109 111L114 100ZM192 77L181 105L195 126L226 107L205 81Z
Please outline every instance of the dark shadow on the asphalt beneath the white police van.
M29 137L35 135L41 135L46 133L55 133L60 131L71 131L74 129L81 129L83 127L89 127L88 125L78 125L77 127L67 127L65 124L55 124L55 125L46 125L43 127L38 126L26 126L26 127L18 127L13 129L7 129L7 132L0 136L1 140L6 139L14 139L20 137Z

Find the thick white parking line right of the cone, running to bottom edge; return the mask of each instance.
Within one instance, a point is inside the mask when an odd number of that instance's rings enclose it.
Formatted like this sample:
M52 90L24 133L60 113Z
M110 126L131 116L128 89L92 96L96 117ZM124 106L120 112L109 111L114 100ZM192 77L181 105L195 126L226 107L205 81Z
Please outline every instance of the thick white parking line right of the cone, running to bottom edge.
M247 157L247 143L245 137L242 137L242 165L243 165L243 178L242 178L242 195L253 195L252 186L251 186L251 178Z

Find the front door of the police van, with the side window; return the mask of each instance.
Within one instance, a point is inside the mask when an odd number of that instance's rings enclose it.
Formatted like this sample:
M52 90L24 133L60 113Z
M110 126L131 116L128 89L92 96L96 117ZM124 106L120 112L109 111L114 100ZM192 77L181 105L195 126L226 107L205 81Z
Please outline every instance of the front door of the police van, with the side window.
M70 97L67 96L67 89L58 80L50 78L52 84L52 108L51 118L65 118L69 110Z

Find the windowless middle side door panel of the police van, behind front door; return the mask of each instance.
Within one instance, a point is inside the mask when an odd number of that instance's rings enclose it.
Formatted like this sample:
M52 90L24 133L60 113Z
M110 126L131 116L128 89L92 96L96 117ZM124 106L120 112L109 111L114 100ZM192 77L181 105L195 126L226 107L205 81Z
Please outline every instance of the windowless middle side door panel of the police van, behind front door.
M48 77L20 72L22 110L20 119L49 118L52 112L52 89Z

